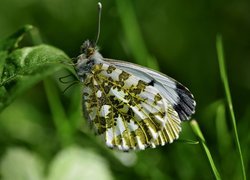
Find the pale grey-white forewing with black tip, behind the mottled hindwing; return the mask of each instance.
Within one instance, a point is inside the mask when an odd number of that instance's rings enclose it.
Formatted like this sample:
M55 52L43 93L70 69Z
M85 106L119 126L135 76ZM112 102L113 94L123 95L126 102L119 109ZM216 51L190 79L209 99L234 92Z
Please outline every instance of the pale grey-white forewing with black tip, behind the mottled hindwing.
M190 119L190 116L195 112L196 102L193 95L176 80L137 64L107 58L104 60L124 71L141 77L147 83L151 83L171 103L181 120Z

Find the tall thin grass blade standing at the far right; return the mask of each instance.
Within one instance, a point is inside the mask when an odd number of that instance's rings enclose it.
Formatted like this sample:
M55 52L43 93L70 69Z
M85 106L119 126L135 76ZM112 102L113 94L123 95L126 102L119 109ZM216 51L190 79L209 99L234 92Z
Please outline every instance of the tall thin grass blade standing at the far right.
M224 60L223 44L222 44L221 35L217 35L216 48L217 48L217 54L218 54L221 80L222 80L222 83L224 85L226 98L227 98L229 111L230 111L230 116L231 116L231 120L232 120L233 130L234 130L235 143L236 143L236 146L237 146L237 149L239 152L239 156L240 156L242 176L243 176L243 179L246 180L246 171L245 171L243 156L242 156L242 152L241 152L240 141L239 141L239 137L238 137L236 120L235 120L235 115L234 115L234 110L233 110L233 103L232 103L232 98L231 98L231 94L230 94L228 78L227 78L227 73L226 73L226 68L225 68L225 60Z

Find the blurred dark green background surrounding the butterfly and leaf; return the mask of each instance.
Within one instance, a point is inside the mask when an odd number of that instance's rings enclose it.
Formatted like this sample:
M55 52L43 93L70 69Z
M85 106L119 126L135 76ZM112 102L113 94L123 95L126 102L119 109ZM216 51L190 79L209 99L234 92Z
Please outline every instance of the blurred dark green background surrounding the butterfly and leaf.
M100 51L104 57L160 67L186 85L197 101L198 121L223 179L241 179L216 55L221 33L232 99L249 172L250 1L102 1ZM97 1L1 0L0 38L25 24L44 43L79 55L97 33ZM0 115L0 178L3 179L213 179L199 145L176 142L119 153L94 137L81 117L80 89L65 88L58 72L16 99ZM68 121L53 120L48 86L54 86ZM52 88L53 89L53 88ZM66 125L65 125L66 124ZM70 124L69 126L67 124ZM188 122L180 139L195 140ZM71 127L69 129L68 127Z

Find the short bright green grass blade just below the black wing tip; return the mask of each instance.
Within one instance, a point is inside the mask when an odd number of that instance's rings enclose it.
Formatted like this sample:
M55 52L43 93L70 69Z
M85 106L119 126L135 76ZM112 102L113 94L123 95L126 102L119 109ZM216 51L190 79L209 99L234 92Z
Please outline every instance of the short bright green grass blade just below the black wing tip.
M217 180L220 180L221 177L220 177L219 171L217 170L217 168L216 168L216 166L214 164L214 160L213 160L212 155L211 155L211 153L210 153L210 151L209 151L209 149L207 147L205 138L204 138L204 136L203 136L203 134L202 134L202 132L200 130L200 127L199 127L198 123L195 120L192 120L190 125L191 125L191 128L192 128L194 134L198 137L199 142L202 145L202 147L203 147L203 149L204 149L204 151L205 151L205 153L207 155L208 161L210 163L210 166L212 168L212 171L214 173L215 178Z

